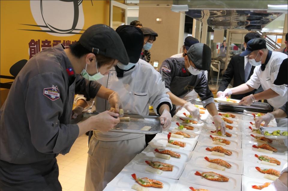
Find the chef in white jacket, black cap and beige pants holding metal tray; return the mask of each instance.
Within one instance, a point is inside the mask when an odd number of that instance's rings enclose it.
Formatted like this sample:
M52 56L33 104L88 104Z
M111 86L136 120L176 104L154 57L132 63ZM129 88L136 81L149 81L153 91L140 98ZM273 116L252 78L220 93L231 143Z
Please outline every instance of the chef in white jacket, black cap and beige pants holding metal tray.
M139 59L143 47L140 28L122 25L116 29L129 56L129 64L117 63L98 80L119 93L125 114L149 115L149 104L160 115L163 130L170 127L172 103L161 75L151 64ZM148 75L147 75L148 74ZM79 98L79 96L78 96ZM110 104L96 98L96 111L110 110ZM91 103L88 103L90 106ZM144 134L93 131L88 150L86 191L101 191L135 156L146 147Z

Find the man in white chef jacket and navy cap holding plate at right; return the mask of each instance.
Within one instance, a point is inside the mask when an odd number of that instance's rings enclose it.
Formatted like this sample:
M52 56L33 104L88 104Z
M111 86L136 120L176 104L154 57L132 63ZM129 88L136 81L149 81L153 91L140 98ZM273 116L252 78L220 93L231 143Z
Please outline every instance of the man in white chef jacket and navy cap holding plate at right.
M287 58L282 52L270 51L266 47L266 41L263 38L255 38L247 43L247 48L240 56L249 57L249 63L256 66L250 79L240 86L226 89L222 96L231 94L243 94L259 88L261 85L263 92L251 94L241 99L239 104L250 106L256 100L267 99L268 103L277 110L288 100L287 87L284 85L275 85L275 81L280 64ZM277 126L287 127L287 119L276 119Z

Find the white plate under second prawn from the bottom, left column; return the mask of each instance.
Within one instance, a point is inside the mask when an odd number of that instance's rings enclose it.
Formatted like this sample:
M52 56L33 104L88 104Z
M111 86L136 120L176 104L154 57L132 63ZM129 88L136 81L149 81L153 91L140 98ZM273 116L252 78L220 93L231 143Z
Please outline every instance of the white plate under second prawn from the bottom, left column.
M158 174L154 174L151 172L146 171L145 169L147 167L151 167L149 166L145 161L158 161L161 163L167 163L167 164L171 164L173 165L173 171L163 171L161 175ZM185 168L186 164L185 163L178 163L175 161L169 161L167 162L167 160L165 159L160 159L160 158L154 158L154 157L147 157L143 154L137 154L134 159L132 159L130 161L130 163L128 163L125 168L127 169L132 169L138 172L143 172L143 173L147 173L147 174L151 174L151 175L157 175L157 176L162 176L165 178L171 178L171 179L179 179L180 175L182 174L184 168ZM153 167L151 167L153 168Z

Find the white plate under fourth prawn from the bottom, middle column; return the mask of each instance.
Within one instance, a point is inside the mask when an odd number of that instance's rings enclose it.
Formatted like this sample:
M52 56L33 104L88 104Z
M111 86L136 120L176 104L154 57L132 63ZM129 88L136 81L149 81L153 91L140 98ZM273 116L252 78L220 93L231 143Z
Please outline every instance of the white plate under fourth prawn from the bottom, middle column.
M194 149L194 151L195 152L199 152L199 153L203 153L203 154L207 155L207 157L214 156L214 155L211 155L210 151L207 151L205 149L207 147L212 148L214 146L215 145L198 142L196 147L195 147L195 149ZM224 158L242 160L242 149L241 148L231 148L231 147L226 147L226 146L222 146L222 147L225 148L225 149L228 149L229 151L232 151L232 155L231 156L225 154Z

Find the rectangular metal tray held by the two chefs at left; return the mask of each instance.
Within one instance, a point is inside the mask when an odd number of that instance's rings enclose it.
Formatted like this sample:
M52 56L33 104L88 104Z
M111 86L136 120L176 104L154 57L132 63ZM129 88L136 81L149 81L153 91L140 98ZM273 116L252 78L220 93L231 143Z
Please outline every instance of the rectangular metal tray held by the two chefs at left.
M91 116L97 115L97 112L83 112L76 119L71 120L71 124L76 124L80 121L84 121ZM160 123L159 116L145 116L145 115L126 115L124 117L130 117L130 121L123 121L118 123L115 128L110 132L118 133L136 133L136 134L156 134L162 133L163 125ZM150 131L140 130L144 126L151 126Z

